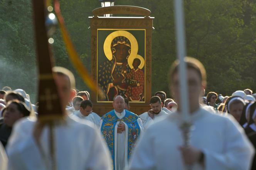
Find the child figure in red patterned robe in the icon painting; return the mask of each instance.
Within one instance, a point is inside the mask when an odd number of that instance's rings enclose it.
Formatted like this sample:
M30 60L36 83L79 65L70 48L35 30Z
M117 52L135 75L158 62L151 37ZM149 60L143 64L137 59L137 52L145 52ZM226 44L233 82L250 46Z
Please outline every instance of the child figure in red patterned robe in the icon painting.
M139 58L133 60L133 69L126 75L130 79L130 85L125 93L130 101L140 101L143 98L144 72L139 68L141 61Z

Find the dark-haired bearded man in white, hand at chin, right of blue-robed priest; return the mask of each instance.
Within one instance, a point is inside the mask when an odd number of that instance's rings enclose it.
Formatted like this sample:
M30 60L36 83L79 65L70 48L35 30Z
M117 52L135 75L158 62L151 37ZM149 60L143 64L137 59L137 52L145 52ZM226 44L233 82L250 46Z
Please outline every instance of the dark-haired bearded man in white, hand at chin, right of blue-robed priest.
M150 107L151 110L148 112L142 113L140 115L141 121L145 129L147 129L154 122L158 122L165 117L167 117L167 113L162 110L163 103L158 96L153 96L150 98Z

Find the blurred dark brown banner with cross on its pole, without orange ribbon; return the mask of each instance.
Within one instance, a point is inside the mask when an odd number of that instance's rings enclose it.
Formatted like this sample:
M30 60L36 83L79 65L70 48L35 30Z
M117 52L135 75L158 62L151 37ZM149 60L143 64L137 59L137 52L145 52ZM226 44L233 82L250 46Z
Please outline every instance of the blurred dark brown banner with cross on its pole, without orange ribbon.
M39 65L39 108L38 120L34 128L34 137L39 147L42 158L45 161L45 166L51 170L56 170L56 155L54 142L54 121L62 120L64 117L64 110L61 107L61 100L57 91L57 86L52 74L52 65L54 65L51 48L48 43L47 28L45 21L47 17L47 10L45 7L45 0L32 0L34 12L34 29L35 42L37 52L37 63ZM53 13L52 13L53 15ZM49 15L48 15L49 17ZM49 28L48 28L49 30ZM40 143L40 135L44 126L49 127L49 148L50 161L48 156L42 150Z

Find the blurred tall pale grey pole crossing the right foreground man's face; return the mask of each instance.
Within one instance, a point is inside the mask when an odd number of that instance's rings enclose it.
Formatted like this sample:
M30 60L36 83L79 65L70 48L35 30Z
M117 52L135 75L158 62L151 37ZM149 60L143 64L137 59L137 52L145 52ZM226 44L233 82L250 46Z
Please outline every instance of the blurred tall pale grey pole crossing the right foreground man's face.
M179 58L179 79L180 79L180 101L181 112L184 122L189 122L189 102L188 102L188 88L187 88L187 65L184 62L186 56L185 46L185 28L184 28L184 10L183 0L175 0L175 30L176 30L176 49L177 57Z

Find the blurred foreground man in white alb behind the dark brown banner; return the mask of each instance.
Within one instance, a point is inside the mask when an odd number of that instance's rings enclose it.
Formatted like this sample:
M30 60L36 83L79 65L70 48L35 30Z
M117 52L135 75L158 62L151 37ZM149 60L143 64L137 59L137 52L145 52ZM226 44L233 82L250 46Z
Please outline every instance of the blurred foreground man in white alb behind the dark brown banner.
M65 68L54 67L53 71L62 110L65 110L74 87L74 76ZM8 170L48 170L52 165L58 170L111 169L107 146L87 120L66 114L54 127L54 146L55 162L50 156L49 126L42 126L36 118L20 120L7 145Z

